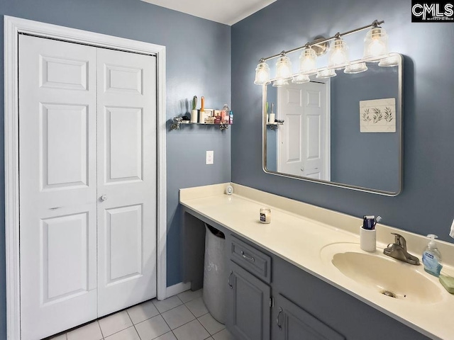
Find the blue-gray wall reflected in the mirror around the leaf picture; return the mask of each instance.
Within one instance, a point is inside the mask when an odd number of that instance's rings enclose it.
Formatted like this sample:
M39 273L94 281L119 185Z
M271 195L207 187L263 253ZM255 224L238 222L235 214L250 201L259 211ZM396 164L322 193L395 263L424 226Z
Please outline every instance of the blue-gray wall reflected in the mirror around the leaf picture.
M399 132L360 132L359 106L360 101L381 98L396 98L397 105L398 67L367 64L367 72L341 71L331 78L331 181L395 193Z

